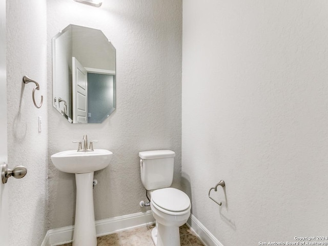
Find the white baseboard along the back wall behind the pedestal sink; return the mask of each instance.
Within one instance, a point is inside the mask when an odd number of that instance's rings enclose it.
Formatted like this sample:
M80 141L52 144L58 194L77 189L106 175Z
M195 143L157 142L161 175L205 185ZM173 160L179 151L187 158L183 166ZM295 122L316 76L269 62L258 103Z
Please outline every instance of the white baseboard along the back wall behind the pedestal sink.
M152 212L135 213L96 221L97 237L143 227L155 221ZM49 230L41 246L56 246L72 242L74 226Z

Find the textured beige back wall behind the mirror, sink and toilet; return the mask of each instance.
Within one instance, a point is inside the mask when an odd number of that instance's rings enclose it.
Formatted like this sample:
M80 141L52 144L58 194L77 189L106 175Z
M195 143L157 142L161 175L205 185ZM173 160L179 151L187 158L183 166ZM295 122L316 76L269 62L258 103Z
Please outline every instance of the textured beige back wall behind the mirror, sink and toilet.
M173 186L181 175L182 2L104 1L93 8L67 0L47 1L48 104L52 105L51 38L69 24L100 29L117 52L117 109L102 124L71 125L49 106L49 157L75 149L88 134L95 148L114 153L111 165L95 173L95 217L106 219L145 211L139 207L138 152L176 152ZM75 178L57 171L49 158L50 228L74 223Z

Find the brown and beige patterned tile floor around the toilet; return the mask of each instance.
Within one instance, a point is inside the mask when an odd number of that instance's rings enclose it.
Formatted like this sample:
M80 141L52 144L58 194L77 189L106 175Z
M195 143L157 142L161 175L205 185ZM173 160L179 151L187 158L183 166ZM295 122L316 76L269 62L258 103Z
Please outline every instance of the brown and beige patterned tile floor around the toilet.
M97 246L154 246L151 238L151 227L141 227L125 232L110 234L103 237L98 237ZM203 246L204 244L197 238L196 235L185 224L180 227L181 246ZM72 243L67 243L61 246L72 246ZM168 245L169 246L169 245Z

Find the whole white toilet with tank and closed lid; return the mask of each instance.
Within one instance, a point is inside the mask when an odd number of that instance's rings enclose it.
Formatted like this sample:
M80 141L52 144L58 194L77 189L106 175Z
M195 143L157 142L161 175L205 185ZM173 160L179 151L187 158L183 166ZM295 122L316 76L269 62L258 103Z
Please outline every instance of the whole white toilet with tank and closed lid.
M190 216L191 203L186 193L170 188L175 153L171 150L139 152L142 185L150 191L150 207L156 227L152 239L156 246L180 246L179 227Z

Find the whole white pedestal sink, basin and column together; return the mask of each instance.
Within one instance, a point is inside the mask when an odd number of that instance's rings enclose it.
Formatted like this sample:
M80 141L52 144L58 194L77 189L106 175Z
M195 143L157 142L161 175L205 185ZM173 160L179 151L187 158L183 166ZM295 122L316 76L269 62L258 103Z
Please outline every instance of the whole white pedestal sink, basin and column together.
M96 246L96 227L93 206L93 174L106 168L113 153L95 149L88 152L68 150L51 156L54 166L66 173L75 173L76 209L73 246Z

